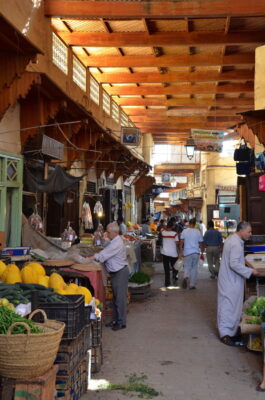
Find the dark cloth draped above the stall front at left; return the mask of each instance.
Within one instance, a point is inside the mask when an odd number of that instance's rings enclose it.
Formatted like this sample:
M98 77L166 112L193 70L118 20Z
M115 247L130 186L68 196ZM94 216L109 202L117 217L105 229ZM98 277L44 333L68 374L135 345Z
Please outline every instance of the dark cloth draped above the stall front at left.
M78 183L86 174L75 177L56 165L54 171L49 175L48 179L38 180L26 167L25 182L30 192L53 193L54 200L63 205L65 193Z

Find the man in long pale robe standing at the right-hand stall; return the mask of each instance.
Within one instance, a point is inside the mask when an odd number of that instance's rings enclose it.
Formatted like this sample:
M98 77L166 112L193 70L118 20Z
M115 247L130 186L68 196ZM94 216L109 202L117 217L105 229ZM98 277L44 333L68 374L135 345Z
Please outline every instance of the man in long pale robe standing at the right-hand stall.
M239 344L236 333L242 315L245 279L259 275L256 269L245 266L244 241L251 234L250 223L242 221L224 244L218 275L217 325L221 342L228 346Z

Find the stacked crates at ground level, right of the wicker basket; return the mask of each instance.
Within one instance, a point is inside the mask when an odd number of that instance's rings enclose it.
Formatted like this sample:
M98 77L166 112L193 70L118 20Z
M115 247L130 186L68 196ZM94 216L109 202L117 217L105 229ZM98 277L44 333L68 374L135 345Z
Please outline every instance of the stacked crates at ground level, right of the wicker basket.
M56 397L60 400L78 400L86 391L90 377L91 326L86 325L77 338L61 341L55 363Z

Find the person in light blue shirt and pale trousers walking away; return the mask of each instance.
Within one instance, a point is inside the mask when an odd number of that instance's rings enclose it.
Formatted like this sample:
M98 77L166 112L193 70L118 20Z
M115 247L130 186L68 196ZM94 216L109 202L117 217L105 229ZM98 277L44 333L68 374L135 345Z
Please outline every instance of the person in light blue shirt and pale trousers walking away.
M199 229L195 228L196 219L189 222L189 227L184 229L180 236L180 257L184 255L183 289L196 289L198 264L200 253L203 254L203 237ZM183 251L184 244L184 251Z

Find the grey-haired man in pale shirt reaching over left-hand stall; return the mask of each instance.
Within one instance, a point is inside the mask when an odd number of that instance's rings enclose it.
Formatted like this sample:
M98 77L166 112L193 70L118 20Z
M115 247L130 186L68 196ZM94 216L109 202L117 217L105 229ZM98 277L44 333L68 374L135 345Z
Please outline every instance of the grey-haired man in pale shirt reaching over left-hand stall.
M96 260L105 263L106 270L110 274L113 291L113 321L109 324L114 331L126 328L126 303L128 292L129 270L127 266L126 249L122 238L119 235L119 226L113 222L107 226L107 233L110 244L89 257L89 260Z

